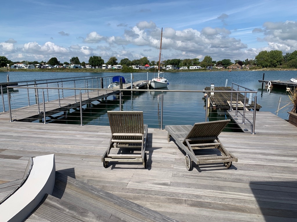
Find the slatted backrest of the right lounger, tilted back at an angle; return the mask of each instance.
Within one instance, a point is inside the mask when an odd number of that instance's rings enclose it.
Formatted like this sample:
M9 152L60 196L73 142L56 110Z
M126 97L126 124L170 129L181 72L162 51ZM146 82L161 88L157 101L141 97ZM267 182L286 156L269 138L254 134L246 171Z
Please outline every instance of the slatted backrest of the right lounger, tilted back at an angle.
M217 137L227 126L230 120L218 120L195 123L185 139L201 137Z

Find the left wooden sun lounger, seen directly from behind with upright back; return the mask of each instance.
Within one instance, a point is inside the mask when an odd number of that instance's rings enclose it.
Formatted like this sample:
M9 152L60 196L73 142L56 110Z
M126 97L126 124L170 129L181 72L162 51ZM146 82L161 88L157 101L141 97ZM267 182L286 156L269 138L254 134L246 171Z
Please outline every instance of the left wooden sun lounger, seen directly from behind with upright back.
M148 125L143 124L143 112L107 111L107 114L111 138L101 159L103 166L107 168L109 161L142 162L146 168L147 154L145 151ZM118 152L115 153L114 150Z

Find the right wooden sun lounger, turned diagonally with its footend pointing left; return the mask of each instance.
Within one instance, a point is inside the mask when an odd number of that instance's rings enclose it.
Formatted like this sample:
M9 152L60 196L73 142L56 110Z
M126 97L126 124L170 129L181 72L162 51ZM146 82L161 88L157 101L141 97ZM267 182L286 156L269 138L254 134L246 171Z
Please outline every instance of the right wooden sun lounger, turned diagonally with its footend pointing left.
M185 164L187 170L192 170L192 161L194 163L224 163L229 168L232 162L237 162L237 157L228 152L218 136L227 126L230 120L219 120L191 125L165 126L168 133L168 142L170 137L175 139L178 147L186 152ZM218 149L221 154L195 154L194 150L199 149ZM197 151L196 151L197 152Z

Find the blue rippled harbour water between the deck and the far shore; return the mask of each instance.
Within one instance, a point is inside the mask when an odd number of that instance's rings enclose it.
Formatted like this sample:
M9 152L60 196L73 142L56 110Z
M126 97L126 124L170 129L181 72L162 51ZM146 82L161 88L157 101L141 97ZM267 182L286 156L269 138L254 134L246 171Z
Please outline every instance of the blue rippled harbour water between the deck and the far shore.
M214 71L164 74L169 81L168 89L170 90L203 90L206 86L210 86L211 83L214 83L215 86L225 86L226 79L228 79L228 86L231 86L231 83L234 82L258 91L257 103L262 106L260 112L269 111L276 114L280 96L282 97L281 107L289 102L289 98L285 89L274 88L267 91L264 86L263 91L261 91L262 83L259 83L258 80L262 80L263 73L263 71ZM79 76L105 77L122 75L126 79L130 77L130 73L1 72L0 82L7 82L7 74L9 74L10 82ZM153 73L149 73L149 79L152 77ZM288 81L292 77L296 77L296 71L265 71L265 80ZM134 74L134 81L146 79L147 73ZM160 93L158 92L139 92L127 95L123 97L123 110L143 110L145 123L149 124L149 127L158 128L160 124L160 98ZM175 124L192 125L195 122L203 122L205 119L205 107L203 107L204 102L202 98L202 93L164 93L163 126ZM3 110L2 101L0 110ZM110 96L108 101L102 104L94 104L92 109L86 109L83 119L84 124L108 125L107 110L119 110L119 101L116 96ZM67 123L79 124L79 112L73 112L71 116L72 118L68 118ZM287 110L279 111L278 116L287 119Z

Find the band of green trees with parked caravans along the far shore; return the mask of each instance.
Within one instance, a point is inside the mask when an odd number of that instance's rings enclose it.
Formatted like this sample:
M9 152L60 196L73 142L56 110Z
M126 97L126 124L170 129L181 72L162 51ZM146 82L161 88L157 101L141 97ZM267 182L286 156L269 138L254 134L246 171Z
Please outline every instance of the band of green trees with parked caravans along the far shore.
M91 65L94 67L101 67L103 64L106 65L122 65L123 67L129 67L132 65L141 65L144 66L146 64L150 66L158 65L159 61L149 61L147 57L143 57L141 59L134 59L129 60L128 58L121 59L120 62L118 62L118 59L115 56L112 56L108 59L108 61L105 63L101 56L90 56L88 63L86 62L80 62L78 57L72 57L69 62L61 63L58 61L56 57L50 58L48 62L38 62L38 61L21 61L22 63L25 63L26 65L31 64L49 64L49 65ZM7 59L5 56L0 56L0 67L7 67L7 64L9 66L14 65L17 62L12 62L11 60ZM204 59L200 62L199 59L168 59L160 62L161 66L167 66L167 65L176 65L177 67L182 66L201 66L201 67L208 67L208 66L215 66L215 65L222 65L224 67L228 67L229 65L232 65L233 63L238 63L239 65L253 65L258 67L284 67L284 68L297 68L297 50L295 50L292 53L286 53L285 55L282 54L282 51L280 50L271 50L271 51L261 51L258 55L255 56L255 59L245 59L244 61L241 60L234 60L234 62L231 62L230 59L222 59L220 61L213 61L211 56L205 56Z

